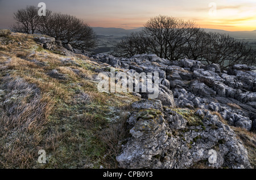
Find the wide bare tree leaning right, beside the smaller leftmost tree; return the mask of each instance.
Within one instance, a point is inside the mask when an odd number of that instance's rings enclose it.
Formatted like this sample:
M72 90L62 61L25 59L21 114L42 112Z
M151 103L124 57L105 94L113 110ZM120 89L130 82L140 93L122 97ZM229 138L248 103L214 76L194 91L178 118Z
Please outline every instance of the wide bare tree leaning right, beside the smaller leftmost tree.
M72 15L49 13L41 20L38 31L76 49L92 50L96 47L96 33L87 23Z

